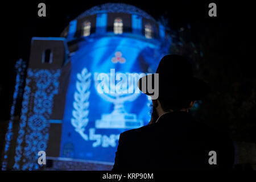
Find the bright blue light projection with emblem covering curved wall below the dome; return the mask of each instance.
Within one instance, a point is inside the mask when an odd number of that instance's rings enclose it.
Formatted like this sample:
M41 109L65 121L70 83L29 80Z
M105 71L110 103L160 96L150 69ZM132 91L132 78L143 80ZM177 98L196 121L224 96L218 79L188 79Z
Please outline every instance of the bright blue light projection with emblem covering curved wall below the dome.
M71 57L60 157L113 163L119 134L148 123L151 100L144 94L99 94L97 75L108 75L111 69L123 74L154 72L162 51L152 40L125 35L106 36L78 46ZM133 86L137 87L137 80Z

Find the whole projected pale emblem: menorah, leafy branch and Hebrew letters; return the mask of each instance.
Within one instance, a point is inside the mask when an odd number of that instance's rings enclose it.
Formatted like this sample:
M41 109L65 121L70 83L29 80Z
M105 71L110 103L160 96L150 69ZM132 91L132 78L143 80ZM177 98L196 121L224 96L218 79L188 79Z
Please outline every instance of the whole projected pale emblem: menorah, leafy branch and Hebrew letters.
M96 93L103 100L112 102L114 109L111 113L101 114L101 119L96 119L95 126L89 126L89 97L91 73L82 69L77 73L76 92L74 94L71 124L81 137L92 142L92 147L115 147L119 134L97 134L96 129L134 129L143 126L143 121L137 115L128 113L124 103L136 100L141 92L137 87L139 78L144 73L117 73L110 69L110 73L94 73L94 86Z

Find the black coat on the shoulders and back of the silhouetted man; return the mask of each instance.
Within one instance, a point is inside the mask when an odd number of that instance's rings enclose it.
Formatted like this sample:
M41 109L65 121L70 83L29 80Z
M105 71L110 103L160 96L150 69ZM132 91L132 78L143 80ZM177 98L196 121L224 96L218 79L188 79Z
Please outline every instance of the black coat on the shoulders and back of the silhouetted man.
M209 164L216 151L217 164ZM184 111L163 114L158 122L120 135L113 171L231 169L233 142L194 121Z

